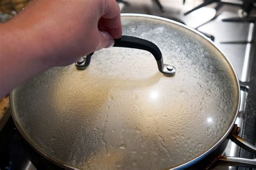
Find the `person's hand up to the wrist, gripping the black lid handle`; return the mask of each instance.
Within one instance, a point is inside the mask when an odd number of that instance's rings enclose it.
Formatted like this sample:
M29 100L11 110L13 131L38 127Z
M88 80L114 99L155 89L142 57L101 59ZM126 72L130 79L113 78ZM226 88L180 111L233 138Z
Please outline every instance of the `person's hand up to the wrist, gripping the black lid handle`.
M33 0L10 24L30 37L28 45L34 41L34 53L49 67L69 65L122 36L114 0Z

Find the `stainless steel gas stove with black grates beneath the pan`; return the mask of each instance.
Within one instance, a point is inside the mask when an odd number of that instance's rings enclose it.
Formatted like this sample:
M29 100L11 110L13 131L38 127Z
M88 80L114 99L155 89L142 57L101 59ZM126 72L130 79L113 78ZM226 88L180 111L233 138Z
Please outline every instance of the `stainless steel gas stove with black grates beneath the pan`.
M234 66L241 84L241 104L236 124L241 128L240 136L255 145L256 68L253 66L256 65L256 9L253 1L119 0L118 3L122 13L160 16L190 26L203 33L224 52ZM15 169L13 162L22 165L19 169L36 169L21 149L22 146L17 144L17 140L21 140L21 137L10 119L0 132L0 154L8 153L10 158L1 158L4 161L0 160L0 169ZM254 158L253 154L232 141L228 142L223 154L230 157ZM217 166L214 169L246 168Z

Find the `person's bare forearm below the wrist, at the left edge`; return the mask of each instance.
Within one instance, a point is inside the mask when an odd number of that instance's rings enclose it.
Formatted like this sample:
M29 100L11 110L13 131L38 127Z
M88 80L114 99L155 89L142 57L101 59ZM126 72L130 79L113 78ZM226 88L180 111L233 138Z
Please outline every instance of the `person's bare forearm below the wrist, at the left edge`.
M0 32L1 98L54 63L42 52L41 40L36 32L20 29L12 23L0 25Z

